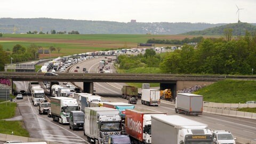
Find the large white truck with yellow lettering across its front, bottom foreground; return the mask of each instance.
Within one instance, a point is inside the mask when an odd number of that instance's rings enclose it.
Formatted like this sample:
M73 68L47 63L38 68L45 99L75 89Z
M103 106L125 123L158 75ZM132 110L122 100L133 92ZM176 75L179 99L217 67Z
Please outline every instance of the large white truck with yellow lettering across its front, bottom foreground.
M208 126L178 115L151 116L151 143L213 144Z

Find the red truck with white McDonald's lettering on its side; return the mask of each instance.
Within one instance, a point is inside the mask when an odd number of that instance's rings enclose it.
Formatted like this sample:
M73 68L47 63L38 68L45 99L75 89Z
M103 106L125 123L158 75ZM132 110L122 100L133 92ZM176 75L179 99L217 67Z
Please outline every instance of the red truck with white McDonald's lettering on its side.
M149 109L126 109L125 130L133 143L151 143L151 116L166 115Z

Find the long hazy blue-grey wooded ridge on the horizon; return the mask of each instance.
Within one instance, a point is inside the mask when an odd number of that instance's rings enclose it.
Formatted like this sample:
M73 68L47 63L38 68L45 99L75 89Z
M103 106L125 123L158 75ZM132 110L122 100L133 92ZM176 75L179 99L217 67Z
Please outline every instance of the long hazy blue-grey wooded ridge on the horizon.
M51 30L79 31L80 34L164 34L175 35L187 33L192 30L226 25L225 23L188 23L188 22L115 22L115 21L89 21L89 20L66 20L50 18L12 19L0 18L0 33L27 33L28 31L43 31L50 33Z

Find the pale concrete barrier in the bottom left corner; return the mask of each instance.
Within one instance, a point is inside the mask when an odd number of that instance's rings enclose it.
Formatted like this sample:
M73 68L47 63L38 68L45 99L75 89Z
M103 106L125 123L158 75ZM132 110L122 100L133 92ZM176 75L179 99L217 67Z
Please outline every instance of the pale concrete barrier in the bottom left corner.
M0 141L22 141L22 142L39 142L39 141L44 141L47 144L60 144L58 142L54 141L47 141L47 140L42 140L42 139L34 139L34 138L27 138L27 137L21 137L17 135L9 135L9 134L2 134L0 133Z

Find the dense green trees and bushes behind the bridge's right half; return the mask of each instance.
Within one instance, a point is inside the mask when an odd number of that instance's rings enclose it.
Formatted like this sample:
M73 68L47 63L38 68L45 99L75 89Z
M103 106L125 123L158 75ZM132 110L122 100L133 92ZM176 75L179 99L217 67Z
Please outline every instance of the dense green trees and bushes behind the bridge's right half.
M246 31L243 37L203 38L197 47L185 44L161 55L121 55L118 62L122 69L159 67L162 73L249 75L256 68L255 55L256 35Z

